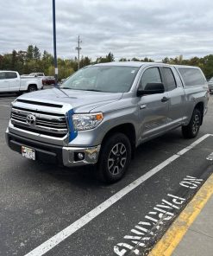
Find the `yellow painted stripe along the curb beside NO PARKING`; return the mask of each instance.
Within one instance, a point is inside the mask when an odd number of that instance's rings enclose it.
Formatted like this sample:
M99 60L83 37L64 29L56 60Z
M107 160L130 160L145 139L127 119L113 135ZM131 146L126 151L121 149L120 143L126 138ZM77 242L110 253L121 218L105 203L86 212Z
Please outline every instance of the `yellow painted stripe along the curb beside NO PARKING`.
M188 228L197 218L197 215L201 212L202 208L210 196L213 195L213 174L204 183L201 189L193 197L191 202L186 208L179 214L179 217L172 223L172 226L166 231L166 234L160 239L159 242L153 247L153 250L148 256L169 256L174 249L179 245L183 236L187 232Z

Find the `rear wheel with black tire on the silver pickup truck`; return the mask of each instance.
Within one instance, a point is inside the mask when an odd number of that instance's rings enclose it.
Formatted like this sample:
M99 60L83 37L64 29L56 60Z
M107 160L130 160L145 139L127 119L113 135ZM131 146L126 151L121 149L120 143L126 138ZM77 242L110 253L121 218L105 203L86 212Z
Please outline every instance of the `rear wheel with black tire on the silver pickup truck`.
M182 126L184 138L196 138L200 129L202 114L197 108L192 113L189 125Z

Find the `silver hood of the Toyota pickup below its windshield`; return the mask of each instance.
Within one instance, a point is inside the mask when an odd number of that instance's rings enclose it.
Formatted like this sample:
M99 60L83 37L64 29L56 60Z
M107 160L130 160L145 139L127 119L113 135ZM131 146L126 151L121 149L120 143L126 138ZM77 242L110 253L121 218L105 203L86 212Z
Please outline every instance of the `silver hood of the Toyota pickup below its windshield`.
M18 99L27 99L46 103L70 104L74 112L91 112L97 106L103 106L122 98L122 93L102 93L78 90L47 89L26 93Z

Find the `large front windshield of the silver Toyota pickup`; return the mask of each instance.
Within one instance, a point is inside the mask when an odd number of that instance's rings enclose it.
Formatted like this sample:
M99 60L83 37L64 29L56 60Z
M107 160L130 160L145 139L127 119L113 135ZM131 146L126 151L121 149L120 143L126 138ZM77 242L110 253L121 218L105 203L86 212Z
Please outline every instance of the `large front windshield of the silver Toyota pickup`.
M135 80L139 67L93 66L80 69L60 88L126 93Z

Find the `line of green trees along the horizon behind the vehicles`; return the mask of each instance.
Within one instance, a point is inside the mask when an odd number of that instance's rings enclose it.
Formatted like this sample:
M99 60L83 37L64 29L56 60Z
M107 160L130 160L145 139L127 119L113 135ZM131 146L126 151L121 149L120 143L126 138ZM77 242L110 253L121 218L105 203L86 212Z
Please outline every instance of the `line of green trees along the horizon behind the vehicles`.
M110 52L105 56L97 57L97 60L92 62L88 56L82 56L80 61L80 67L85 67L94 63L103 63L114 61L114 55ZM126 58L121 58L119 61L130 61ZM132 58L131 61L148 61L153 60L145 57L139 60L138 58ZM174 58L165 57L162 60L163 63L168 64L180 64L180 65L191 65L200 67L206 78L210 79L213 77L213 54L206 55L204 57L194 56L191 59L184 59L183 55L176 56ZM78 60L74 58L72 60L58 59L59 66L59 78L66 78L73 72L78 70ZM2 70L16 70L20 74L30 74L33 72L44 72L46 75L54 74L53 67L53 55L44 51L41 55L39 48L35 45L29 45L27 50L15 49L8 54L0 54L0 69Z

